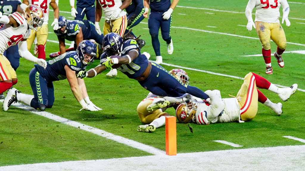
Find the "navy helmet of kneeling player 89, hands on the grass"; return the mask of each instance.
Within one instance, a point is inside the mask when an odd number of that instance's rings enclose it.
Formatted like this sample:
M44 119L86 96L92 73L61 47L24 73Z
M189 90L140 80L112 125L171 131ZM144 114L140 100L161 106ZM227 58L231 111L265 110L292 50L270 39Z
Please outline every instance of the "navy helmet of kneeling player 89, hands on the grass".
M79 43L76 52L84 65L91 65L96 58L96 45L89 40L83 40ZM85 58L89 57L91 57L90 60L86 62Z

